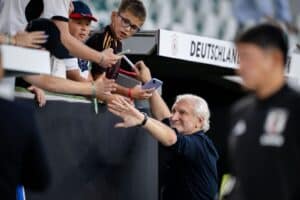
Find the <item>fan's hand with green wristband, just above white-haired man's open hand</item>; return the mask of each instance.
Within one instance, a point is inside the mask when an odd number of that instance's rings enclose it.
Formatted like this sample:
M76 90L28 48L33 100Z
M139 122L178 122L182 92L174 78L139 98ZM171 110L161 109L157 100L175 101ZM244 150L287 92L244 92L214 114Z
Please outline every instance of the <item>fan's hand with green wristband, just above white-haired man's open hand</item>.
M116 90L115 80L107 79L105 73L97 78L94 84L96 87L96 96L99 99L103 99L106 95Z

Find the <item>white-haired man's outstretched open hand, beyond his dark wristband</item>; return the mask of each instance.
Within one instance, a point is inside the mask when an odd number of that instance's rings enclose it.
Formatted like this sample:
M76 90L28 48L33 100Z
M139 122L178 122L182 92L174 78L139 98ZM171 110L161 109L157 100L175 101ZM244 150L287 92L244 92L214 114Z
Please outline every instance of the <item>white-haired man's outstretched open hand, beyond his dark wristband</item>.
M136 126L144 119L144 115L125 98L113 100L108 104L108 110L123 119L123 122L117 123L115 127L127 128Z

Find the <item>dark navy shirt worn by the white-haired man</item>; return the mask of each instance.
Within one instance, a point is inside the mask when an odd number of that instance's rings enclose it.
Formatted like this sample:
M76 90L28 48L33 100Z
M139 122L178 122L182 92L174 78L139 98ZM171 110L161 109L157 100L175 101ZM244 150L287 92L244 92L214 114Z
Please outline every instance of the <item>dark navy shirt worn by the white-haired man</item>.
M169 120L165 119L163 122L169 125ZM219 155L203 131L192 135L177 133L174 145L161 148L163 153L169 154L167 159L160 160L162 200L217 198Z

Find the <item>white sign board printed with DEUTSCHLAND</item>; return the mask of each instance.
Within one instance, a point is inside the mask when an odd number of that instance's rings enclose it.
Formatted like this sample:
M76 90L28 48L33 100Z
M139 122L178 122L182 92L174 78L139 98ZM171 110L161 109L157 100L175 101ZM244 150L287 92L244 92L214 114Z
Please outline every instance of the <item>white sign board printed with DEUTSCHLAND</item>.
M159 30L158 55L236 69L238 52L233 42Z

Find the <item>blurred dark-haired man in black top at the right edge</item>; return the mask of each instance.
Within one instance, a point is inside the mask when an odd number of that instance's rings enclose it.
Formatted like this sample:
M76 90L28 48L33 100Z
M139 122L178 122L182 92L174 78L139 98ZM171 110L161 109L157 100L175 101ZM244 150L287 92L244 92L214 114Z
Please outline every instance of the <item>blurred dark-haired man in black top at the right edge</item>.
M287 85L287 36L262 24L236 39L239 75L253 94L232 109L232 200L300 199L300 96Z

